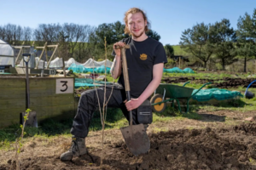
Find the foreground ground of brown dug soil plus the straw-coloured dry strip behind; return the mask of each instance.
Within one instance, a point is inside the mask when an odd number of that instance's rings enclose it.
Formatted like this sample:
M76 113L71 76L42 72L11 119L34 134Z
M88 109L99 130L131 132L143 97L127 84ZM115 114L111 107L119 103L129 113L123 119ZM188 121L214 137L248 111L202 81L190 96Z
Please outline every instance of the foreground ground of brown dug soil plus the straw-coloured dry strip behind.
M90 132L86 139L90 155L61 162L69 137L28 139L20 154L22 169L256 169L256 123L245 123L255 112L199 111L201 120L157 122L148 127L150 151L132 156L119 129ZM232 122L228 121L233 120ZM237 125L229 125L234 123ZM156 132L157 128L166 129ZM15 169L14 150L0 151L1 170Z

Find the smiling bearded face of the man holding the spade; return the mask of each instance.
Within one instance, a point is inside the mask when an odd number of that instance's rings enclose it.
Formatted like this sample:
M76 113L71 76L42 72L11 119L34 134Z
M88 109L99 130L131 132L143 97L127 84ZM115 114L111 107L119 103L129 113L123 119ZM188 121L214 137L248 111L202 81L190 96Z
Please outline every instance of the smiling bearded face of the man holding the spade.
M128 14L127 25L133 37L141 37L145 32L147 20L144 20L142 13Z

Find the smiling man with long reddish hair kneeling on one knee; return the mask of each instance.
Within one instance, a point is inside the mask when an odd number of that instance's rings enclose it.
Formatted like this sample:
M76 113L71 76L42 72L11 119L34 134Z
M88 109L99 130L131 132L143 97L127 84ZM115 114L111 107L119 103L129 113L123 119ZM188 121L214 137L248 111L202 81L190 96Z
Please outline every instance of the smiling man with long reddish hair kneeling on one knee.
M137 108L147 100L154 90L159 86L164 64L167 62L166 52L160 42L148 37L148 19L146 14L139 8L131 8L125 13L125 33L131 37L123 39L121 42L113 44L113 65L111 68L114 79L119 78L119 84L115 84L113 94L108 101L108 107L119 107L127 120L129 120L129 111L132 111L133 124L143 123L148 127L147 120L143 120L137 115ZM125 82L122 74L120 49L116 46L126 49L126 60L129 72L129 81L131 88L131 100L126 102ZM107 88L107 99L111 93L111 88ZM99 103L98 98L99 96ZM90 120L97 106L102 106L104 88L96 88L85 91L79 100L77 115L73 120L71 133L73 134L73 144L67 152L61 154L61 161L70 161L73 156L82 156L87 153L84 138L88 134Z

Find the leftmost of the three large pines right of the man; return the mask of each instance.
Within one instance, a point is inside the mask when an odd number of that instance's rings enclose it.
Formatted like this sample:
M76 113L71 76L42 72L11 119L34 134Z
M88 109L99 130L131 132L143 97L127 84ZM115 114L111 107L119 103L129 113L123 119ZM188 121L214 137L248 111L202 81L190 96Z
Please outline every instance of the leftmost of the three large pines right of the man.
M182 32L179 42L181 48L200 59L204 63L204 67L207 67L207 61L213 53L212 39L209 33L210 26L204 23L196 24L192 29L189 28Z

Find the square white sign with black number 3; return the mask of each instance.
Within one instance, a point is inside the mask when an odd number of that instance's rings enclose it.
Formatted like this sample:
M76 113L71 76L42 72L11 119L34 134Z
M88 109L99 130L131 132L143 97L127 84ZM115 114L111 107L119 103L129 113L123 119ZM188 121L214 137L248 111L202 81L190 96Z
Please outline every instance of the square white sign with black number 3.
M56 94L73 94L73 78L57 78Z

